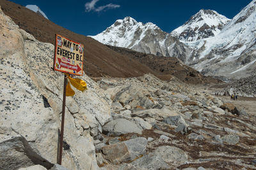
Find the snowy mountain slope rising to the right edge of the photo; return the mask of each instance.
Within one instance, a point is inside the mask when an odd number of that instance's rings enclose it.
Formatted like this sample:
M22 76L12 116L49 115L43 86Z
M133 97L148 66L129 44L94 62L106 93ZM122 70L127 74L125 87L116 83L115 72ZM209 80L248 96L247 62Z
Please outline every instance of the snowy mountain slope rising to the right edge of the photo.
M248 76L256 68L256 0L238 13L219 34L186 42L193 48L186 64L207 75Z

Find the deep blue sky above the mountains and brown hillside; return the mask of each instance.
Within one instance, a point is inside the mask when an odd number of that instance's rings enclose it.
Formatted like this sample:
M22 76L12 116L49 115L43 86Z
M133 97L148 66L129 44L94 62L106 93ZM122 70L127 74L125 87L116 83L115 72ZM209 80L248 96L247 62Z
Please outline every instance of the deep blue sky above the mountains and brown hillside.
M251 0L10 0L36 4L55 24L78 34L96 35L118 19L132 17L171 32L199 10L215 10L233 18Z

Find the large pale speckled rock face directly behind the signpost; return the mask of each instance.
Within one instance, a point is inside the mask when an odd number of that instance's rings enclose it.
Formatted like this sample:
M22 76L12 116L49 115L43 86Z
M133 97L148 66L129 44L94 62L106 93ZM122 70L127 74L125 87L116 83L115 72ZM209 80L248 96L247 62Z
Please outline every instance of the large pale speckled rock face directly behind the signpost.
M12 136L20 135L36 154L56 163L63 74L51 68L54 46L19 29L3 11L0 23L0 141L6 143ZM76 95L67 99L63 166L97 169L92 136L97 136L101 126L110 120L112 101L95 81L86 75L80 78L86 81L88 90L76 90ZM15 160L15 168L35 164Z

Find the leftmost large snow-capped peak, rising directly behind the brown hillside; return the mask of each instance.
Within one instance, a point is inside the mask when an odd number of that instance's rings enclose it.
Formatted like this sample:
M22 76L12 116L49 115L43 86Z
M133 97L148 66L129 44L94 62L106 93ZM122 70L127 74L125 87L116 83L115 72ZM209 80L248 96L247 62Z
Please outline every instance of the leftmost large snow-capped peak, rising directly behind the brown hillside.
M130 48L158 56L176 56L182 59L188 55L186 46L180 43L179 39L151 22L143 24L131 17L116 20L105 31L91 37L106 45Z

